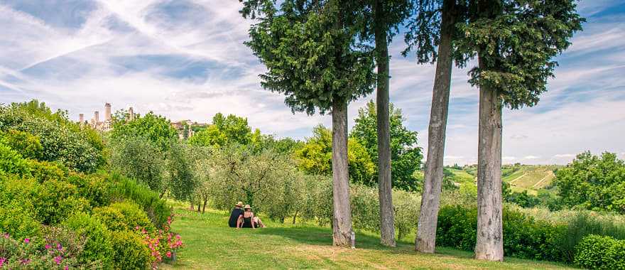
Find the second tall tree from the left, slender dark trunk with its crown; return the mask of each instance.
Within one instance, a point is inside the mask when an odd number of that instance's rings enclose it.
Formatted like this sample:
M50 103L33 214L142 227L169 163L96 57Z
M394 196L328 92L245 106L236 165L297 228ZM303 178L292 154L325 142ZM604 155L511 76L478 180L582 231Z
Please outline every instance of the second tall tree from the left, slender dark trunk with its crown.
M357 1L355 3L358 3ZM377 77L377 136L378 136L378 192L380 202L381 244L395 247L393 198L391 196L391 127L388 116L389 55L388 43L398 32L398 26L408 18L412 2L409 0L367 0L362 39L374 42Z

